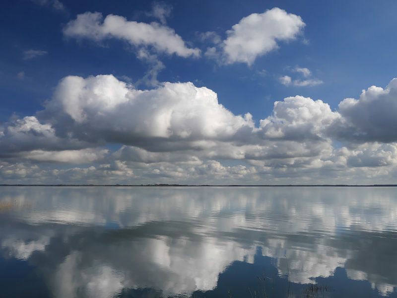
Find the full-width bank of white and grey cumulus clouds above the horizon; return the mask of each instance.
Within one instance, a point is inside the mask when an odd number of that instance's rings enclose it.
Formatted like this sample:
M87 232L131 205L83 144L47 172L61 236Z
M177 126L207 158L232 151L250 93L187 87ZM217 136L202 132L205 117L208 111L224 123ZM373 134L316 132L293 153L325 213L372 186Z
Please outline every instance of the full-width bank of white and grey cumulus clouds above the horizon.
M21 173L33 181L37 172L51 177L55 169L26 172L29 163L68 162L87 167L57 171L51 180L87 175L86 181L106 183L126 173L128 183L330 183L371 175L390 181L397 164L390 129L396 81L344 99L336 111L322 100L287 97L256 125L251 114L233 114L214 91L190 82L144 90L113 75L67 76L44 110L0 127L0 176L10 181ZM232 160L238 164L229 166Z

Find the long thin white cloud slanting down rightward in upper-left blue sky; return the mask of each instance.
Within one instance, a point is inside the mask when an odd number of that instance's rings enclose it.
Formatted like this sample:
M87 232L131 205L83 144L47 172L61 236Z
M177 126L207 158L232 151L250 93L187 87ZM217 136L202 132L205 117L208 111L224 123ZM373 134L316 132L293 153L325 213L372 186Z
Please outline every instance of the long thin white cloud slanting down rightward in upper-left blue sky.
M164 14L163 14L164 15ZM150 24L128 21L125 17L109 14L103 19L99 12L85 12L66 24L67 37L102 41L117 38L133 47L152 47L157 52L181 57L198 57L199 49L188 48L175 31L156 22Z

